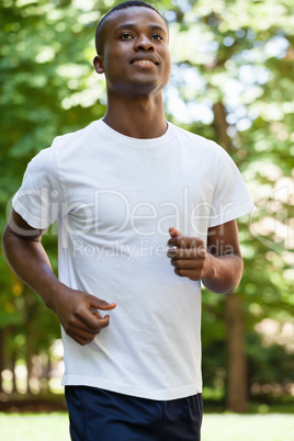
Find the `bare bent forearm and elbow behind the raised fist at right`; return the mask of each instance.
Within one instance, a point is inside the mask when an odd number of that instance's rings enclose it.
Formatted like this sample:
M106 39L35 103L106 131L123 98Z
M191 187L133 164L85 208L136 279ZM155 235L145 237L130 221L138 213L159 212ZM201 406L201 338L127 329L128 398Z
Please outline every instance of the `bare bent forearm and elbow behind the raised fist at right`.
M210 256L208 276L202 279L204 286L217 294L229 294L238 286L242 275L242 258L237 255Z

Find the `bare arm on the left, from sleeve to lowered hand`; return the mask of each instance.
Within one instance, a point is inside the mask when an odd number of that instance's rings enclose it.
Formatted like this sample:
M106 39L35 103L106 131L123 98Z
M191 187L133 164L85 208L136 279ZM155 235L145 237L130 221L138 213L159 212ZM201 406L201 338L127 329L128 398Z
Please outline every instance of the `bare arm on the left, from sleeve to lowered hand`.
M4 256L15 274L54 310L67 335L87 344L110 323L109 315L102 318L93 308L110 310L116 305L59 282L42 246L43 234L12 211L2 235Z

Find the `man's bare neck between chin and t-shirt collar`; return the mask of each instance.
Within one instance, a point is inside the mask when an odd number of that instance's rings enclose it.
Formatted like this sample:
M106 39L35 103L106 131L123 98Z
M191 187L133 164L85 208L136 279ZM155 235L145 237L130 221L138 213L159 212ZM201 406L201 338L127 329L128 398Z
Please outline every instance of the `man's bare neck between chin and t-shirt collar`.
M162 97L116 100L109 97L103 121L114 131L132 138L157 138L167 131Z

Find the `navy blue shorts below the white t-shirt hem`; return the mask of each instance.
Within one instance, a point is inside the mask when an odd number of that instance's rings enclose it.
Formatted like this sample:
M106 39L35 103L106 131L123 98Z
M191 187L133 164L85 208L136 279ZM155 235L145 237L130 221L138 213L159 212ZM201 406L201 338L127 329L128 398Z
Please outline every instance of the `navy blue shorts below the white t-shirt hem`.
M72 441L199 441L202 394L168 402L66 386Z

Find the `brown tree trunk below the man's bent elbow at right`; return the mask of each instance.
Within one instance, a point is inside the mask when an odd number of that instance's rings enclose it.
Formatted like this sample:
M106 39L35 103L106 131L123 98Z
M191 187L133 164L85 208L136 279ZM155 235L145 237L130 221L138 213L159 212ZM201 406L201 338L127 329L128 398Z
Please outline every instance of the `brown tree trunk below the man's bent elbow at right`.
M228 348L227 407L244 412L248 405L247 361L245 352L244 313L241 297L226 297L226 327Z

